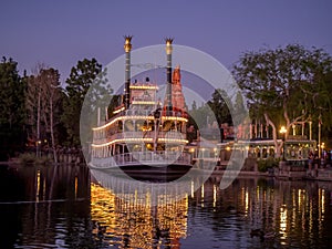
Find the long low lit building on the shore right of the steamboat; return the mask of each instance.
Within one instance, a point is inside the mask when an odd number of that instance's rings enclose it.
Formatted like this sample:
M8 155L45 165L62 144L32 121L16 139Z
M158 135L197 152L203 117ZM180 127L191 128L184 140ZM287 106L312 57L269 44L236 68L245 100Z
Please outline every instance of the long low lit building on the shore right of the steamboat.
M280 156L286 160L308 160L311 155L318 154L317 141L312 139L311 136L304 135L304 132L301 135L297 135L293 129L292 135L287 137L283 146L283 139L278 138L274 142L271 137L272 132L269 132L268 127L250 125L248 132L249 136L245 134L245 137L239 137L235 135L235 128L230 125L224 124L221 128L215 126L206 127L199 131L200 136L188 145L188 149L194 158L199 158L199 155L203 155L201 159L212 159L218 165L226 164L234 151L247 152L249 160L253 159L255 162L276 158L278 155L276 144L281 149ZM220 136L217 135L218 133L220 133Z

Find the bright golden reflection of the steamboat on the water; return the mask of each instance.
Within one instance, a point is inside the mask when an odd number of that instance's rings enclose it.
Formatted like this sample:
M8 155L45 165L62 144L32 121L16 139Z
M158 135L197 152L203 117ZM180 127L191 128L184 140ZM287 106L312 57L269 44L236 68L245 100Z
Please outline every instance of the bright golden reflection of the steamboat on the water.
M94 237L120 248L180 248L186 238L188 195L206 175L191 174L175 184L137 181L114 170L91 170ZM112 221L112 222L111 222Z

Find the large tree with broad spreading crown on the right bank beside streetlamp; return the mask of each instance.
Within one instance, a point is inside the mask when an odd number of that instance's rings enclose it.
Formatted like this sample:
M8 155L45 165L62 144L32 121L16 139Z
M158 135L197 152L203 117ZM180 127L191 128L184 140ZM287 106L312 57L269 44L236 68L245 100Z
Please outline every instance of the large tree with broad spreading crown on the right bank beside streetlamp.
M234 75L249 101L250 113L263 117L272 127L277 143L281 125L287 134L293 124L307 122L326 107L317 101L326 98L324 75L331 72L332 60L320 49L304 49L298 44L245 53L234 66ZM331 110L329 111L331 112Z

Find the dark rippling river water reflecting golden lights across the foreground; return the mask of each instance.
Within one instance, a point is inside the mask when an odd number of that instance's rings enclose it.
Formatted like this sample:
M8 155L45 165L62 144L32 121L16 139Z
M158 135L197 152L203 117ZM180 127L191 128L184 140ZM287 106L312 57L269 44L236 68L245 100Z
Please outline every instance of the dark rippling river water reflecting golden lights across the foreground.
M0 248L331 248L332 184L210 177L126 201L86 167L0 166ZM257 229L257 230L256 230Z

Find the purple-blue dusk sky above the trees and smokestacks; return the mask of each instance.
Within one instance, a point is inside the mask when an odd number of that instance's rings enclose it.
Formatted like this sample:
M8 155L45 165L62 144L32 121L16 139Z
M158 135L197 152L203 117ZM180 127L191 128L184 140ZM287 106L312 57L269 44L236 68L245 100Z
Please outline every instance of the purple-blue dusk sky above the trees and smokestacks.
M43 62L66 79L77 60L107 64L123 54L123 35L134 48L164 43L205 51L225 66L246 51L289 43L332 54L332 1L3 1L0 55L20 72Z

